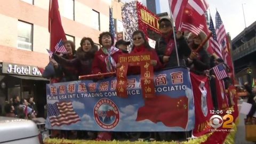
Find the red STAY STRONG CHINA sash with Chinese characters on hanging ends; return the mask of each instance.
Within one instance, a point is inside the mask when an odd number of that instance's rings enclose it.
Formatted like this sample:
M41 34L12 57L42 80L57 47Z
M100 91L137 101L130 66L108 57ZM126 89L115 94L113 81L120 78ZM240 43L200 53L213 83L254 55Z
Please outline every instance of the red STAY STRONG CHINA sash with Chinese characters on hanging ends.
M117 68L116 92L119 97L127 98L127 68L129 65L140 66L141 68L141 89L143 98L155 97L154 68L149 64L152 55L150 52L141 54L123 54L119 56Z

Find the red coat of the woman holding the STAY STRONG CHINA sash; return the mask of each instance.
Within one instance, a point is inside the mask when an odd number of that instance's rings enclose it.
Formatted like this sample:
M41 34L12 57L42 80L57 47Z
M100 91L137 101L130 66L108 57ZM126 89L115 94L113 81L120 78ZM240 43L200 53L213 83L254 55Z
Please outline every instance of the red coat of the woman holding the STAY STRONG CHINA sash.
M142 45L139 47L134 47L134 49L131 51L130 54L138 54L138 53L143 54L144 52L151 52L153 55L152 60L157 61L157 65L154 67L154 71L161 70L162 63L160 62L155 49L153 49L153 48L147 49L144 45ZM140 74L140 67L139 66L129 66L129 68L127 70L127 74L129 74L129 75Z

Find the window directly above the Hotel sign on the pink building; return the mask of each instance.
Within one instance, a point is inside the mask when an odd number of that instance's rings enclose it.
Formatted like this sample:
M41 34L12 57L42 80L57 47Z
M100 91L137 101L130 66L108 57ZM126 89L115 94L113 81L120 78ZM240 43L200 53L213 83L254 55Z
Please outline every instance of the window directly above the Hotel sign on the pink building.
M31 50L33 47L33 25L18 21L18 48Z

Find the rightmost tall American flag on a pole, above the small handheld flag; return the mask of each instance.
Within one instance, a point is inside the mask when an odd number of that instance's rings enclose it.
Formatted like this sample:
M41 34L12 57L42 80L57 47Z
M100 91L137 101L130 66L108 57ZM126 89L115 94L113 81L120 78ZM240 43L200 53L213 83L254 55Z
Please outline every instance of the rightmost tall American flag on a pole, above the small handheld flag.
M220 18L220 14L218 11L216 12L216 15L215 15L215 24L216 24L217 40L219 42L222 52L225 52L224 54L222 53L222 55L223 55L222 58L226 59L227 54L228 54L227 53L228 51L226 50L227 49L227 41L226 41L227 33L226 33L225 27L223 25L223 22Z

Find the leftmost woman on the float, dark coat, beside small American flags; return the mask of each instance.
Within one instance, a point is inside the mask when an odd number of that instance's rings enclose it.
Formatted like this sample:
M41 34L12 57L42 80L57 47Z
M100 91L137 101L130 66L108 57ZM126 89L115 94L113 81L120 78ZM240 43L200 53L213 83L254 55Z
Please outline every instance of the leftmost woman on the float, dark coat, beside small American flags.
M61 57L71 60L76 58L75 44L72 41L63 41L67 52L60 54ZM61 66L55 59L50 59L42 74L45 78L51 78L51 83L67 82L77 80L77 71L73 67Z

